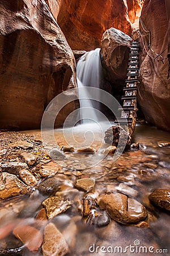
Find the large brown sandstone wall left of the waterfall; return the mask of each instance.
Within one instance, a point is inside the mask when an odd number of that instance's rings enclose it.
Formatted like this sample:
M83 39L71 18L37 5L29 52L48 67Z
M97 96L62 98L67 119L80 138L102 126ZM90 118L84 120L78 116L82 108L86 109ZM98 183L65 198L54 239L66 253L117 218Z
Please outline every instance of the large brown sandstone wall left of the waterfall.
M4 0L0 13L0 127L40 127L50 100L76 84L73 52L44 1ZM75 108L69 104L56 126Z

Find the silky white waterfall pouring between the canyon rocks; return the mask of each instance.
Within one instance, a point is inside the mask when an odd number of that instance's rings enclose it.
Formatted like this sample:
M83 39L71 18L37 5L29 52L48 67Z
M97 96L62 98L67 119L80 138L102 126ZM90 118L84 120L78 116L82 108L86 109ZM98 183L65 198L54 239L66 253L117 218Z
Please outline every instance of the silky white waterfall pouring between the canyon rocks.
M82 122L90 122L91 119L99 121L95 109L100 110L100 94L97 93L97 100L90 100L88 88L80 91L80 87L91 86L100 88L101 82L101 62L100 48L86 52L76 65L76 74L78 81L78 92L80 101L80 119ZM84 98L83 98L84 97ZM86 98L86 99L85 99Z

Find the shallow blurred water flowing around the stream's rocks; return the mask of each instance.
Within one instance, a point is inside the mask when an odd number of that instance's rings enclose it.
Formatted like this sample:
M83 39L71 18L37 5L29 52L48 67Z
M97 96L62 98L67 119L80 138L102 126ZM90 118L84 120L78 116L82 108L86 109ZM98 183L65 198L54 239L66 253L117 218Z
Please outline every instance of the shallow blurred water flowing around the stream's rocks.
M89 130L90 127L87 128ZM103 129L105 130L107 127L105 126ZM82 126L81 128L80 126L77 126L75 128L74 135L76 140L80 143L82 143L84 139L84 131L86 131L85 126ZM96 139L91 143L91 146L98 149L103 141L103 134L100 133L100 127L95 127L92 131L94 132ZM24 131L23 133L35 134L37 138L41 138L40 131ZM55 131L55 137L59 147L67 144L63 138L62 129ZM85 164L84 168L86 169L80 170L79 176L76 176L75 174L76 170L78 170L80 161L78 160L78 162L76 162L75 158L84 158L88 155L75 152L73 153L73 162L70 161L67 163L67 168L62 168L56 175L59 180L62 180L63 184L58 191L58 195L63 195L65 198L74 201L73 206L67 210L66 213L60 214L52 219L52 222L54 222L61 233L63 233L63 236L69 244L70 252L68 256L122 255L122 253L109 253L109 250L111 250L111 247L109 246L122 246L122 249L125 250L125 247L130 245L135 245L135 252L133 253L128 249L124 254L140 255L142 253L138 253L136 248L139 248L138 243L140 243L141 246L147 247L147 253L145 252L143 255L153 254L151 251L148 251L150 246L154 247L154 252L156 249L170 250L170 216L167 212L153 207L148 200L148 195L150 195L155 188L170 187L170 148L169 146L158 146L159 141L169 142L170 134L165 133L164 131L159 131L155 129L155 127L137 125L133 141L139 142L140 150L124 152L115 162L113 162L112 156L107 156L102 162L94 167L86 168ZM139 170L145 170L146 175L139 174ZM124 178L129 175L134 179L125 181ZM103 228L97 228L95 225L88 225L86 219L82 218L82 213L79 209L81 201L87 193L78 191L73 187L76 179L79 179L80 177L91 177L95 179L95 189L88 194L96 198L104 192L116 192L120 183L125 183L129 185L129 187L135 189L137 193L134 195L130 195L129 191L125 191L124 193L145 205L148 212L147 222L150 225L150 228L139 228L135 225L119 224L113 220L108 226ZM1 204L1 228L11 221L23 221L25 224L34 225L33 218L41 209L41 202L44 199L44 196L39 192L34 191L30 197L23 196L17 199L14 198ZM12 247L15 244L13 240L14 238L9 236L6 238L6 241L0 241L0 245L3 245L3 243L6 242L8 247L14 248ZM138 242L134 242L136 240ZM19 244L18 247L19 246L22 246L22 243ZM92 246L91 252L89 250L90 246ZM98 250L96 249L96 246L100 246ZM101 246L105 246L108 249L107 253L103 253L100 250ZM94 253L92 253L92 251L94 251ZM14 253L12 255L18 254ZM41 255L41 253L31 254L28 253L28 251L24 251L23 255ZM158 253L158 255L168 254Z

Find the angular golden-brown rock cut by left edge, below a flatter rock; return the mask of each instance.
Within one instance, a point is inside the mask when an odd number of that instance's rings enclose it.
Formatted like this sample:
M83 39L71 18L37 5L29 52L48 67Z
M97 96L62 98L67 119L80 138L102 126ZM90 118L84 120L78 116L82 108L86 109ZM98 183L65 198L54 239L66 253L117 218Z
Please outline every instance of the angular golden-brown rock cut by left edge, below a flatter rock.
M0 175L0 199L7 199L12 196L24 195L28 187L15 175L2 172Z

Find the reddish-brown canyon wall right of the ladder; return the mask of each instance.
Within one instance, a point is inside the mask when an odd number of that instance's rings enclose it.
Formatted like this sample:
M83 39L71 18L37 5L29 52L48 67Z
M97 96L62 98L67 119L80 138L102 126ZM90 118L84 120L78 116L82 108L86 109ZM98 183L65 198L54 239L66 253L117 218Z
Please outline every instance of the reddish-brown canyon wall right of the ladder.
M162 53L163 57L167 57L167 53L170 51L170 39L168 38L169 14L169 1L145 0L141 17L145 27L151 33L151 48L154 52L148 49L148 32L145 32L142 26L140 29L145 47L154 59L157 56L155 52L157 54ZM170 131L168 59L164 59L163 63L160 56L155 60L151 59L143 47L142 39L140 39L142 64L139 76L141 84L138 89L138 102L148 123L159 129Z

